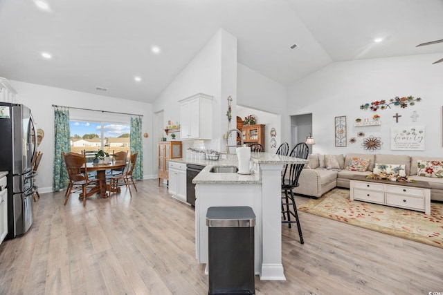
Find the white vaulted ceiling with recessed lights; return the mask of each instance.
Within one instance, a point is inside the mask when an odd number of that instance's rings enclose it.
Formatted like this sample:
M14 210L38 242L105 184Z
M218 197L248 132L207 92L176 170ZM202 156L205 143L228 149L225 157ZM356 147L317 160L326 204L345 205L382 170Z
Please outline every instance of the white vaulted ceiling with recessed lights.
M237 37L240 63L283 85L334 61L443 57L443 43L415 47L443 39L443 0L35 1L0 1L0 77L142 102L219 28Z

